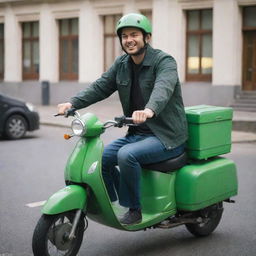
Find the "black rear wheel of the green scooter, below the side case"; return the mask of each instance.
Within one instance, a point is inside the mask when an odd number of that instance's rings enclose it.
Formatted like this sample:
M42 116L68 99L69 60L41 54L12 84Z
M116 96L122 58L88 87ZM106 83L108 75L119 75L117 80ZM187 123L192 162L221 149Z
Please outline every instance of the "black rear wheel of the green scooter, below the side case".
M220 223L223 213L222 202L213 206L207 207L196 214L196 217L201 217L205 222L198 224L185 224L187 230L196 237L204 237L210 235Z

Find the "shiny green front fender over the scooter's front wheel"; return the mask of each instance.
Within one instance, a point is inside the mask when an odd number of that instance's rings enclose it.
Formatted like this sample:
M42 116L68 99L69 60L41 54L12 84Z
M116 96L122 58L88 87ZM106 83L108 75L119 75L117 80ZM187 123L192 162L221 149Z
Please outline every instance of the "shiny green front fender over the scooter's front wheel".
M74 209L84 210L86 203L86 190L78 185L70 185L53 194L44 204L42 213L53 215Z

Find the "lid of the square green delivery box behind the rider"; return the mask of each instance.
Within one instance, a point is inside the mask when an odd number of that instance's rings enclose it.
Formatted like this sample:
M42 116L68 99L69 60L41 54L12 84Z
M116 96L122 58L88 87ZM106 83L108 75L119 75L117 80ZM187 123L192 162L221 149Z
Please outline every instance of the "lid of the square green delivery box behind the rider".
M210 123L223 120L231 120L233 109L210 105L197 105L185 107L186 117L189 123Z

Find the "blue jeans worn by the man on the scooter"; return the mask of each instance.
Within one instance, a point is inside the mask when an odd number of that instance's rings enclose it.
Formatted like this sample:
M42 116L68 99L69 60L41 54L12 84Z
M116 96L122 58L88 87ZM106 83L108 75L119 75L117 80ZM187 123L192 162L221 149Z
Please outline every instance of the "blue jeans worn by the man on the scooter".
M120 205L141 208L141 165L174 158L183 152L184 145L167 150L154 135L127 135L113 141L105 147L102 157L102 175L110 200L116 201L118 195Z

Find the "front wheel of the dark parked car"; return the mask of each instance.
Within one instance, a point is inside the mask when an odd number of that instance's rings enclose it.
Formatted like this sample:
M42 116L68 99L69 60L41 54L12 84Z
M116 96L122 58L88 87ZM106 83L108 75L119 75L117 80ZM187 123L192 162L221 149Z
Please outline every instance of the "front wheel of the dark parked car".
M11 140L22 138L26 134L27 129L27 121L21 115L12 115L8 117L5 123L5 135Z

